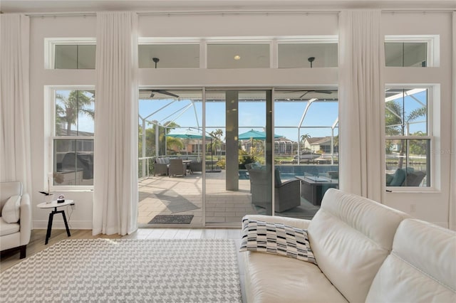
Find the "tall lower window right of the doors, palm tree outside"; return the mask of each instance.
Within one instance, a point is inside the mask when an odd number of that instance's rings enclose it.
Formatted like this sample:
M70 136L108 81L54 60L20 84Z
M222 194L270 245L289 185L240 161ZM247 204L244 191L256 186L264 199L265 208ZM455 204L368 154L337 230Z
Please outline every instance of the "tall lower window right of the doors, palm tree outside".
M385 90L386 186L431 186L430 88Z

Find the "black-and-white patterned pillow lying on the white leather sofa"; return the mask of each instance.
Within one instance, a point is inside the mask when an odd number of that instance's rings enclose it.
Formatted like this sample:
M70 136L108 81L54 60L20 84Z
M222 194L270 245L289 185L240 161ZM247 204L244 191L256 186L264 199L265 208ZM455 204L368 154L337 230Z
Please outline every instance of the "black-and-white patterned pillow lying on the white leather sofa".
M242 220L242 242L240 252L268 252L301 261L315 262L307 238L307 231L280 223L261 220Z

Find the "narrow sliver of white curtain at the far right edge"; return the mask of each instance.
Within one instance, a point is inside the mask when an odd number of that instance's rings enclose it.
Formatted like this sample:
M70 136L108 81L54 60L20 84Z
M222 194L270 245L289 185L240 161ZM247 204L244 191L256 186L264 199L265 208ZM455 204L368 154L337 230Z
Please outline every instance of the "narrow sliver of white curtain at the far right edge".
M456 230L456 11L453 11L453 57L452 57L452 127L451 127L451 176L449 228Z

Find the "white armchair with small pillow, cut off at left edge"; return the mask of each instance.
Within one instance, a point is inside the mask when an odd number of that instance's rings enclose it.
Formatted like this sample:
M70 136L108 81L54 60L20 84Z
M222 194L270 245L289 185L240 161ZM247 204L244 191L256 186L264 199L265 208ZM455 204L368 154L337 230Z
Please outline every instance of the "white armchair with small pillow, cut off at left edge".
M28 193L22 191L21 182L0 183L0 211L0 250L20 248L23 259L30 242L31 204Z

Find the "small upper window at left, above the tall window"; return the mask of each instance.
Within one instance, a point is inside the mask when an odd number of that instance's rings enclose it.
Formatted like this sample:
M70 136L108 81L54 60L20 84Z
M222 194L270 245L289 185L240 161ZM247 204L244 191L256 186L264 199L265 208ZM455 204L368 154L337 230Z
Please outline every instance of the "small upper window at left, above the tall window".
M46 38L45 68L95 69L95 38Z

